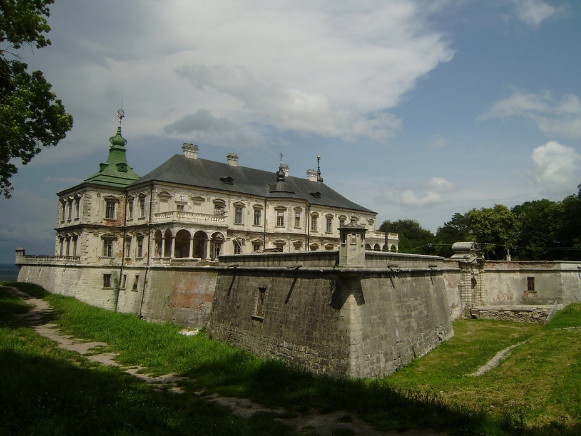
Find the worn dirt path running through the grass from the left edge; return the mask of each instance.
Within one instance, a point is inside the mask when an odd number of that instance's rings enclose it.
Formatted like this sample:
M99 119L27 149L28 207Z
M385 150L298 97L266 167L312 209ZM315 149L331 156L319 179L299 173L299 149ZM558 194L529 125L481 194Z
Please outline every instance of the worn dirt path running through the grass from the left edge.
M30 326L36 330L38 334L50 340L55 341L60 348L74 351L86 359L97 362L102 365L115 366L131 374L134 377L143 380L145 383L159 385L160 387L168 388L176 393L183 393L184 391L179 386L179 382L186 380L185 377L179 377L176 374L167 374L159 377L153 377L145 373L141 373L144 368L139 366L126 367L119 364L115 358L116 353L103 352L99 353L99 349L108 347L105 342L87 342L82 339L65 335L58 330L56 324L51 324L46 321L50 318L52 307L44 300L33 298L25 292L16 288L8 288L14 295L26 300L27 303L33 306L33 309L24 314L17 315L19 318L27 321ZM261 404L255 403L245 398L223 397L218 394L209 394L200 390L195 392L198 396L204 396L204 399L221 406L227 407L231 412L239 417L250 419L256 413L274 413L279 415L276 418L278 421L290 426L298 433L308 432L309 434L317 434L321 436L332 435L339 432L351 432L354 435L361 436L376 436L376 435L401 435L401 436L436 436L438 433L432 430L417 429L408 430L405 432L381 432L375 430L366 422L362 421L356 415L338 411L333 413L320 414L316 411L311 411L307 414L296 415L289 418L284 409L269 409Z

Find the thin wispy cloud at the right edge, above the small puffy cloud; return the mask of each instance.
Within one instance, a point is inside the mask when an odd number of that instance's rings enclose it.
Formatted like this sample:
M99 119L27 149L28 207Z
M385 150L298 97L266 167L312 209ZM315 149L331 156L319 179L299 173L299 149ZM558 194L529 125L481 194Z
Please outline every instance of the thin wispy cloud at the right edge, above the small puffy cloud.
M529 119L546 134L581 138L581 101L574 94L558 100L548 91L535 94L515 90L509 97L494 103L479 119L509 117Z

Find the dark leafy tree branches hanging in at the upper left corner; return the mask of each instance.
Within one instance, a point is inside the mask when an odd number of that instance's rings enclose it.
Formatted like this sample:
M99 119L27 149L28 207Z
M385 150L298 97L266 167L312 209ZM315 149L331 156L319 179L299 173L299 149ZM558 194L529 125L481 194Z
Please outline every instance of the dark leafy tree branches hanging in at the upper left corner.
M73 118L52 93L42 72L27 71L18 50L50 44L46 17L53 0L0 0L0 193L10 197L10 178L41 151L56 145Z

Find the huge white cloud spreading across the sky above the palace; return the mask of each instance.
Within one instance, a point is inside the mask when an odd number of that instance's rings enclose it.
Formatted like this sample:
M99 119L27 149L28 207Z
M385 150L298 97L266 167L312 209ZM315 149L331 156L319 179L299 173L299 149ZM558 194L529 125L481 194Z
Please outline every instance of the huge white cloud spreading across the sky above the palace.
M53 44L32 61L75 116L53 159L100 147L93 138L112 130L122 99L126 137L386 140L401 126L390 110L453 56L430 26L436 10L417 0L57 2ZM188 130L200 111L212 132Z

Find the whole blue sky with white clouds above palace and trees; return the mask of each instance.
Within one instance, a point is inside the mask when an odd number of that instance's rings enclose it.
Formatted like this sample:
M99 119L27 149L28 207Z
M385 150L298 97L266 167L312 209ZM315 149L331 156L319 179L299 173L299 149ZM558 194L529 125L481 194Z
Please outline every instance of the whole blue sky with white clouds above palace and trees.
M143 175L200 157L304 176L432 231L581 182L578 0L56 0L22 57L74 117L0 199L0 263L52 254L55 193L92 175L123 107Z

